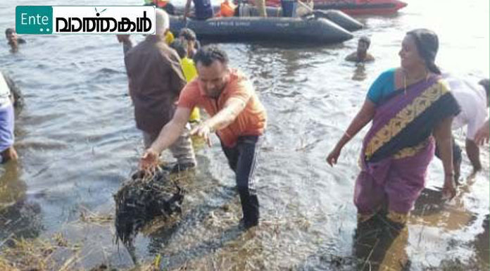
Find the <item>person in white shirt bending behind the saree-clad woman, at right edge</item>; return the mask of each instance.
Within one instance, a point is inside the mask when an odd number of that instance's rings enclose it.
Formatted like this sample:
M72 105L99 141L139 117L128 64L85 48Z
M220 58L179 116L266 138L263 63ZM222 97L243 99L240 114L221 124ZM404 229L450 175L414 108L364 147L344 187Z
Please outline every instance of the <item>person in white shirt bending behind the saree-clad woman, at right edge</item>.
M473 172L478 172L482 170L482 163L480 163L479 147L475 136L487 118L490 99L489 80L472 84L449 74L443 75L443 78L448 82L451 94L461 108L461 112L453 120L452 129L458 130L466 126L466 154L473 166ZM453 169L456 183L460 177L461 160L463 160L461 153L460 146L453 138ZM439 148L436 148L436 156L439 157Z

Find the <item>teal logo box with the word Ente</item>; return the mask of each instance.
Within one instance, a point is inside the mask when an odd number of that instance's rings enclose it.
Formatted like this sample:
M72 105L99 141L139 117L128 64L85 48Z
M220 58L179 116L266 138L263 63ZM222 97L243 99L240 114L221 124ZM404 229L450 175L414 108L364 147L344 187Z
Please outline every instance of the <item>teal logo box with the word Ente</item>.
M16 6L15 31L19 34L51 34L52 6Z

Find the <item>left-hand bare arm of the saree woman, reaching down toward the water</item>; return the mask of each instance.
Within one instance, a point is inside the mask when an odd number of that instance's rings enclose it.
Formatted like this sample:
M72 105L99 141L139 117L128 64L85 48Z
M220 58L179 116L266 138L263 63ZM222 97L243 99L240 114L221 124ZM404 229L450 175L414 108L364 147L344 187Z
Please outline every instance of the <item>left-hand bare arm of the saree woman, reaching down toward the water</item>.
M365 99L363 107L360 108L360 111L357 113L356 117L352 120L351 125L348 125L348 128L341 139L335 145L334 150L328 155L327 163L329 165L337 164L337 159L340 156L340 151L344 148L345 144L350 141L356 134L365 127L368 122L372 120L372 117L375 115L376 105L370 99Z

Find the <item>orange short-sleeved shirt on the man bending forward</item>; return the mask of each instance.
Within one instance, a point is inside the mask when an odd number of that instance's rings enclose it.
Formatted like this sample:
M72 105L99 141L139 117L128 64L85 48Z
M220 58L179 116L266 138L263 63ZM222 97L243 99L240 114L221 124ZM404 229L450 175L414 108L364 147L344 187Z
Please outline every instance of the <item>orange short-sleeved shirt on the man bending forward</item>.
M251 82L237 70L231 71L230 82L223 89L218 99L206 96L204 90L199 87L199 77L192 80L180 92L178 106L189 109L199 106L213 117L230 98L241 99L246 103L246 106L232 124L216 131L223 144L232 147L237 143L238 137L263 134L267 125L265 108L258 100Z

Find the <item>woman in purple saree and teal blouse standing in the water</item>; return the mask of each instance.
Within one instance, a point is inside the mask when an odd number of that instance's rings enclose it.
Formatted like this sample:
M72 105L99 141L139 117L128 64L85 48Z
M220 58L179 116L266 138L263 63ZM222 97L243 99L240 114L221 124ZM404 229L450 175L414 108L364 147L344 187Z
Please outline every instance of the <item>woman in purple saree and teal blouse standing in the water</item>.
M372 84L363 107L327 157L330 165L337 163L344 145L372 120L354 192L358 222L387 207L391 222L406 223L425 187L434 144L441 150L446 172L443 194L456 194L451 122L460 109L434 64L438 47L434 32L408 32L398 53L401 67L387 70Z

